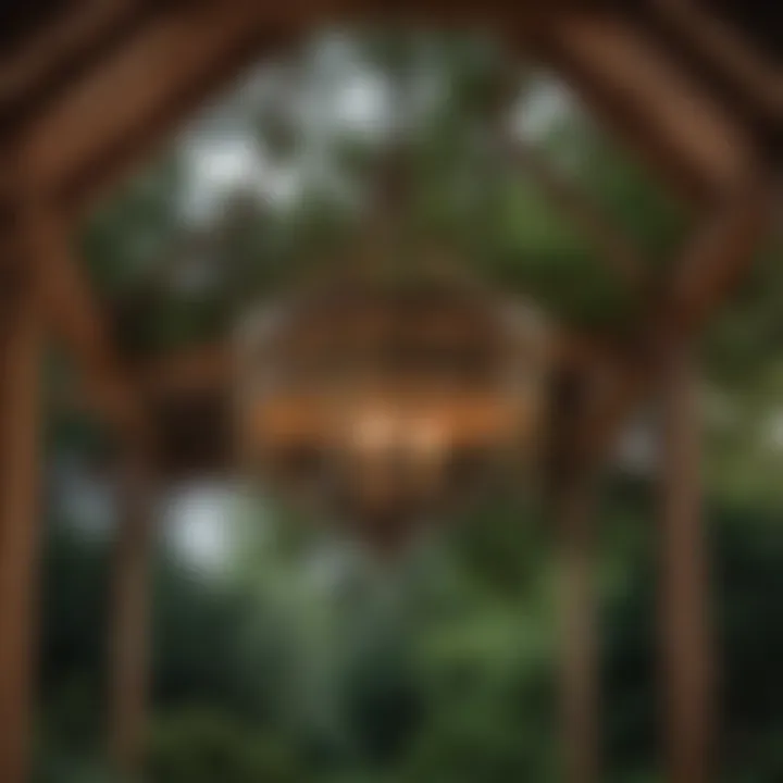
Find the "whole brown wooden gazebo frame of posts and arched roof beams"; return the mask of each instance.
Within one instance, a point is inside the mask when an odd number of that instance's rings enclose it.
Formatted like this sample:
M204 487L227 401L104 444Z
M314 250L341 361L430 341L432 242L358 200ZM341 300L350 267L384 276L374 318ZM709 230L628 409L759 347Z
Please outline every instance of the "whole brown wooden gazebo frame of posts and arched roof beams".
M244 66L318 26L366 20L496 30L570 82L692 209L693 236L671 264L667 284L650 291L639 334L570 355L570 374L581 391L566 395L560 419L567 457L560 460L558 493L567 573L563 748L569 780L599 779L589 477L629 414L656 394L662 402L664 465L659 535L667 779L712 779L712 664L693 355L703 324L750 264L781 209L783 18L778 4L11 0L0 9L3 783L28 779L40 537L38 390L46 344L57 340L73 357L85 396L125 445L128 492L115 570L110 734L117 768L127 773L138 761L145 712L152 484L165 480L172 465L182 467L177 453L194 456L191 444L183 443L191 427L177 427L160 411L206 405L214 413L215 405L219 410L225 405L231 380L227 349L214 346L141 371L130 365L110 340L101 304L74 257L77 221ZM570 185L527 162L601 245L607 260L627 270L634 253L608 221ZM224 463L227 436L220 414L203 419L200 464ZM152 455L161 453L165 459L156 475Z

